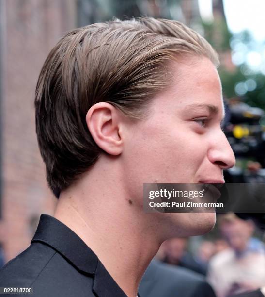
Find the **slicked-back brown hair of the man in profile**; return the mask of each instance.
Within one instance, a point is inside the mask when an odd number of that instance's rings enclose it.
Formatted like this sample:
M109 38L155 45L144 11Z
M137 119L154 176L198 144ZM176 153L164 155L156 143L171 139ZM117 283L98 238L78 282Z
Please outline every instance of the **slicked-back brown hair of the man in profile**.
M49 53L35 94L36 133L47 182L58 197L102 151L85 121L91 106L109 102L134 120L143 119L157 92L170 83L170 62L191 54L218 56L184 24L140 17L75 29Z

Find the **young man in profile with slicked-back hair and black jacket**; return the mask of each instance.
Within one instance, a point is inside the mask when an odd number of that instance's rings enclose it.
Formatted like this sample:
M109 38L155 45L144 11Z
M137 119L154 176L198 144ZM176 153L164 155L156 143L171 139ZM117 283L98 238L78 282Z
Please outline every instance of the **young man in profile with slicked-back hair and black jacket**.
M144 17L78 28L37 83L36 132L59 197L1 286L36 296L137 295L168 238L207 232L214 213L143 211L143 183L222 183L234 165L218 58L185 25Z

